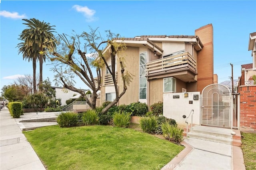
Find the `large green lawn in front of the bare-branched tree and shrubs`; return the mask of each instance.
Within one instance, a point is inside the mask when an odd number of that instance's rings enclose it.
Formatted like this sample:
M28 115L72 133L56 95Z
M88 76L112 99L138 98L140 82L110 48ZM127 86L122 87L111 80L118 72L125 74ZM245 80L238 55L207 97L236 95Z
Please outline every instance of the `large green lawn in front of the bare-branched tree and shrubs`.
M154 170L184 149L134 129L101 125L56 125L24 135L49 170Z

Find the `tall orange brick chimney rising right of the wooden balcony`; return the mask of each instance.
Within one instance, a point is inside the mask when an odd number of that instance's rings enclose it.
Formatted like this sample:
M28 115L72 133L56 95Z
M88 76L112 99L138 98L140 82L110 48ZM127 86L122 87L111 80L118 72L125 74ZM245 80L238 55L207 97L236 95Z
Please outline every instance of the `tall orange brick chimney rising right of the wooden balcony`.
M213 84L213 27L212 24L205 25L195 30L204 47L197 54L197 91Z

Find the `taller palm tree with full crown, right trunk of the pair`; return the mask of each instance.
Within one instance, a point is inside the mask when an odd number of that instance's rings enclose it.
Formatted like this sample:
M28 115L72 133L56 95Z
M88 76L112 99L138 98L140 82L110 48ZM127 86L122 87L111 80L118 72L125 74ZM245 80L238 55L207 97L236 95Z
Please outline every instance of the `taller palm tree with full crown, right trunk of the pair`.
M53 32L55 32L54 28L55 26L50 26L50 23L46 23L44 21L39 21L35 18L32 18L30 20L22 19L23 21L26 21L26 23L23 23L27 25L27 29L24 29L22 33L20 34L20 39L23 40L22 45L26 45L24 47L24 52L26 58L30 58L32 56L28 56L26 53L28 51L32 52L34 55L33 58L39 59L39 68L40 68L40 74L39 74L39 90L42 91L41 84L43 82L43 75L42 75L42 69L43 69L43 62L46 60L46 54L44 53L45 49L47 47L55 48L56 47L56 40L53 35ZM20 47L22 46L20 45ZM27 49L32 48L32 49ZM24 54L24 53L23 53ZM23 56L24 59L24 56Z

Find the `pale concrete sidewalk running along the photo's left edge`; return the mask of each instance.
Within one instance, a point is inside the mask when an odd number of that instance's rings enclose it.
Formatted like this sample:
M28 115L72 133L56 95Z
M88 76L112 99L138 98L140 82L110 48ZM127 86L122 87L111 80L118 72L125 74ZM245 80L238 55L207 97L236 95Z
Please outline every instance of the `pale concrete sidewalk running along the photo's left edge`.
M7 108L0 111L0 169L46 170Z

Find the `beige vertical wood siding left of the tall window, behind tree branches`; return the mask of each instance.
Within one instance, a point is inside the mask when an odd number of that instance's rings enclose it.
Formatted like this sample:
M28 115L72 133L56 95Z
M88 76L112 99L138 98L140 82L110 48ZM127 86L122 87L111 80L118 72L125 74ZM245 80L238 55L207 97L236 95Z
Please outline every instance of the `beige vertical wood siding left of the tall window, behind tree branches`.
M120 98L118 105L121 104L130 104L133 102L138 102L139 100L139 55L140 48L139 47L127 47L126 51L122 53L124 57L126 57L126 67L125 70L128 70L133 76L132 82L130 82L130 86L127 86L127 90L125 94ZM123 81L120 72L120 63L117 61L117 79L119 93L123 91ZM126 72L126 71L125 71Z

